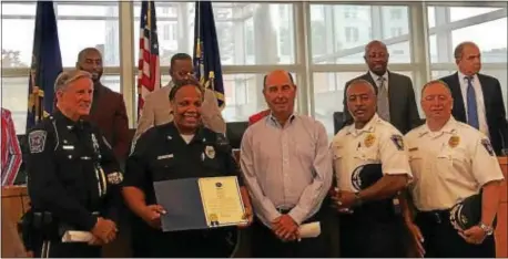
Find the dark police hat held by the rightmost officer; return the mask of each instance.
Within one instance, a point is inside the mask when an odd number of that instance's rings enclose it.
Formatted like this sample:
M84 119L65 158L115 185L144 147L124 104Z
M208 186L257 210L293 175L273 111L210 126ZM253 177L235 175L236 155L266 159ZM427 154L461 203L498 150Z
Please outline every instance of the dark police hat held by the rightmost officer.
M456 204L450 210L450 222L458 230L477 226L481 220L481 193L471 195ZM494 219L492 227L497 224Z

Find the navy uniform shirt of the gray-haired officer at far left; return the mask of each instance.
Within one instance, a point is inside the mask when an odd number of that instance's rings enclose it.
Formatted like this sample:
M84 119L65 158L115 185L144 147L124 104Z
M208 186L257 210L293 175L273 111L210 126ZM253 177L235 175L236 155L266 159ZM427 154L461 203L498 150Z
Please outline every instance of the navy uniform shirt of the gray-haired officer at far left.
M111 146L88 122L60 111L28 133L28 193L35 211L91 230L101 217L118 222L123 175Z

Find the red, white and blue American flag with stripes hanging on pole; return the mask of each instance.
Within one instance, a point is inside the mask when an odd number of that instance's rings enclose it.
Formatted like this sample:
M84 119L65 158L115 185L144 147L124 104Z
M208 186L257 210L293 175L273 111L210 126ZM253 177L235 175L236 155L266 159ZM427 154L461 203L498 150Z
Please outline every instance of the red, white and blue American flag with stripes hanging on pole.
M141 3L140 61L138 64L138 117L144 105L144 97L161 87L158 25L155 3Z

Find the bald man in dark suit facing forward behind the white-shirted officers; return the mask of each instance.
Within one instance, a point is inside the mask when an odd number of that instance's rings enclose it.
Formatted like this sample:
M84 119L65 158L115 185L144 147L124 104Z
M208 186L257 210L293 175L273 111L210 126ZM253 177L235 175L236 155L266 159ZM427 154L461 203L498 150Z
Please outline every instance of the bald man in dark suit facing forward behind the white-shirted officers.
M363 79L376 87L377 114L394 125L403 134L419 126L421 120L416 106L415 90L412 80L403 74L388 71L388 50L380 41L372 41L365 46L365 63L368 72L354 80ZM353 123L353 117L347 112L346 92L352 81L344 87L344 124Z

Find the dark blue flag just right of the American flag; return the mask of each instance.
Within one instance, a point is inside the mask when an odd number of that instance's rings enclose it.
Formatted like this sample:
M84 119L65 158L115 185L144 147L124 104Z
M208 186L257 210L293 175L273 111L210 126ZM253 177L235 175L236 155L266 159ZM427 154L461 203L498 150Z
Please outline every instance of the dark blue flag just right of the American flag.
M194 20L194 69L196 77L214 91L219 107L224 108L224 82L222 81L221 55L212 2L195 2Z

